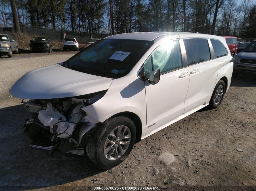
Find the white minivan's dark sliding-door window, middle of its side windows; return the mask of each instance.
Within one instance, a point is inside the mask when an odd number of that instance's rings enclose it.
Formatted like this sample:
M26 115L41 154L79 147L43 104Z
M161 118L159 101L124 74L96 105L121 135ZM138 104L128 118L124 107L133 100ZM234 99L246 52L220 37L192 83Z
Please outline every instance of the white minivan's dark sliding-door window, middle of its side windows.
M211 59L207 39L184 39L188 65Z

